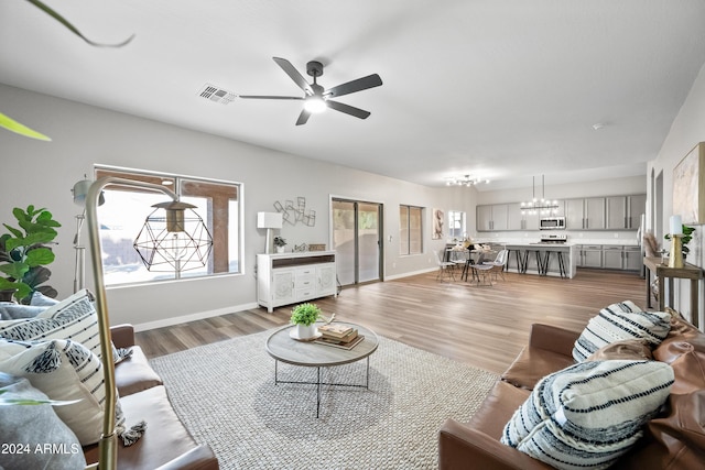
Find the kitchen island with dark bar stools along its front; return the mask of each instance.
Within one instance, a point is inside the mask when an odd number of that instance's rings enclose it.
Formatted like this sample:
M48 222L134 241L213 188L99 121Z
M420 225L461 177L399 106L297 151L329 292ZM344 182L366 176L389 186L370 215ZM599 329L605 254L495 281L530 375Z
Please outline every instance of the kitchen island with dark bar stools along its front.
M575 277L577 249L573 243L507 243L507 271L519 274Z

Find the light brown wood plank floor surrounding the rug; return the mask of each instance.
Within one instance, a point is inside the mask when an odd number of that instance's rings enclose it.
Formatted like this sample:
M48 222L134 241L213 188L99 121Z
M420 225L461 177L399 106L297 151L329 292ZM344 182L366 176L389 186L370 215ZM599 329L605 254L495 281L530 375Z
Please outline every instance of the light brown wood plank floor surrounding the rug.
M506 273L494 285L438 282L427 273L344 288L314 300L326 315L362 324L377 334L470 365L501 373L527 343L531 324L583 329L599 308L633 300L646 307L646 287L634 273L578 270L573 280ZM289 323L291 306L237 311L142 331L137 342L149 358L263 331Z

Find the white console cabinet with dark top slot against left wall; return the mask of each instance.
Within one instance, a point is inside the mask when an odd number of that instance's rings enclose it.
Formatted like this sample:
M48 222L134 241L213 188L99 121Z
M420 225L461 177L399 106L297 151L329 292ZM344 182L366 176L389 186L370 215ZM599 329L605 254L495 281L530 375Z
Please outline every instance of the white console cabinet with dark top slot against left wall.
M328 295L337 295L335 251L257 255L257 302L267 311Z

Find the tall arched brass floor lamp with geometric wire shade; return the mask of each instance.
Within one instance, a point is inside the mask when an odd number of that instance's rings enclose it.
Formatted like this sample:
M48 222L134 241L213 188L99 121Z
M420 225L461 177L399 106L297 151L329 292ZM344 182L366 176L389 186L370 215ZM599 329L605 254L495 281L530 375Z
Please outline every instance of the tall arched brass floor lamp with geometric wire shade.
M97 207L101 198L102 189L108 185L120 185L135 188L143 188L156 193L163 193L173 201L178 203L178 195L171 189L145 182L139 182L115 176L106 176L97 179L90 185L86 194L86 222L88 223L88 244L90 248L90 261L95 281L96 311L98 314L98 329L100 336L100 353L102 354L102 369L105 372L106 401L102 420L102 435L98 442L100 470L115 470L118 462L117 434L115 429L115 407L117 402L115 364L112 362L112 350L110 348L110 319L108 315L108 302L106 295L106 284L102 272L102 247L100 242L100 231L98 223ZM174 219L183 217L178 210L166 210L166 220L171 230L181 230L178 223L173 223ZM213 243L213 240L210 240ZM159 250L154 247L154 250Z

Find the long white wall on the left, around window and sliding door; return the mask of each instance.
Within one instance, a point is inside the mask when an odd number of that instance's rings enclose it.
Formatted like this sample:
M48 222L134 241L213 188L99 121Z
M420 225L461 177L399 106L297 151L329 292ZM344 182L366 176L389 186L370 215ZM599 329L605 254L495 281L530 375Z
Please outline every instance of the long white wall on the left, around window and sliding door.
M46 207L63 223L54 249L57 259L50 266L50 284L59 297L73 289L72 241L80 208L73 204L70 188L84 174L93 174L94 164L243 183L245 274L110 288L112 324L154 327L256 306L254 254L263 251L265 236L256 228L256 212L273 210L275 200L303 196L316 210L315 227L282 229L290 247L329 245L330 195L383 203L384 233L392 236L384 243L387 278L435 267L431 250L441 249L444 240L431 240L431 209L465 210L474 220L474 192L420 186L4 85L0 112L53 139L42 142L0 130L0 222L13 222L12 208L32 204ZM422 255L398 255L400 204L429 208ZM88 270L89 288L90 280Z

